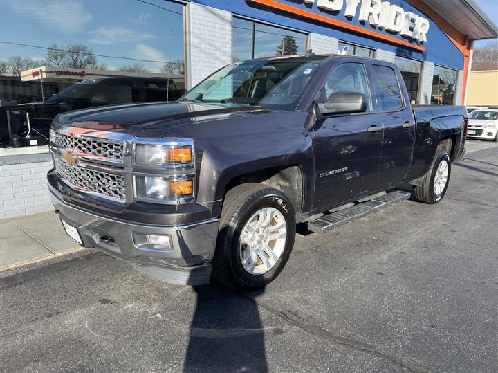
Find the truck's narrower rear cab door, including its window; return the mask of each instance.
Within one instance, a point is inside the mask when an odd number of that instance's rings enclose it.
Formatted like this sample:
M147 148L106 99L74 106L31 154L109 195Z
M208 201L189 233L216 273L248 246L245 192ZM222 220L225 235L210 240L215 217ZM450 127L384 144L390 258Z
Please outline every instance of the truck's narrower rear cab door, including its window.
M379 188L405 179L412 165L416 122L403 79L394 66L371 65L376 111L382 113L384 140Z

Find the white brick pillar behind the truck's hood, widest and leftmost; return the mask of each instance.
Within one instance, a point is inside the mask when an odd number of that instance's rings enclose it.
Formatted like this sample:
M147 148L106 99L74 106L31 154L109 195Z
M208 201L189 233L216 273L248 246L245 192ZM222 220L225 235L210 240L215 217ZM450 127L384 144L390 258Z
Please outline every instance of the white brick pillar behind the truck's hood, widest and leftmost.
M232 13L188 3L188 87L232 62Z

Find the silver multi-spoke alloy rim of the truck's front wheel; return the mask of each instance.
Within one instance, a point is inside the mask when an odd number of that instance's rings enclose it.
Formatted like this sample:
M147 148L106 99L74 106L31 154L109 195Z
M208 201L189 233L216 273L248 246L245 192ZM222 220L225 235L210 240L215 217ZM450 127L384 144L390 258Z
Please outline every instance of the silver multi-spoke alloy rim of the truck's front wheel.
M284 253L287 224L282 212L273 207L261 208L243 226L239 255L243 268L252 275L262 275L275 266Z

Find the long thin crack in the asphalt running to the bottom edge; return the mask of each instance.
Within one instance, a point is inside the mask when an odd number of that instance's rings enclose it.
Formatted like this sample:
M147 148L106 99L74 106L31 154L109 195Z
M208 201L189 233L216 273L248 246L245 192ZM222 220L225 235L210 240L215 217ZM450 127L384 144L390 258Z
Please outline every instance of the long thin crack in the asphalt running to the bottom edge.
M367 354L371 354L373 356L379 358L385 358L400 367L405 368L409 372L414 373L422 373L422 372L430 372L430 369L417 363L413 360L407 360L402 358L396 354L383 352L379 347L374 345L369 345L368 343L360 342L359 340L354 340L353 338L347 338L344 336L340 336L339 334L334 333L333 331L322 327L321 325L314 324L307 320L302 319L297 316L296 313L292 311L288 311L286 309L282 309L282 307L277 307L265 300L257 299L254 300L252 298L248 298L258 304L260 307L266 309L270 313L273 313L275 316L279 316L284 320L284 322L288 322L288 324L294 325L299 329L302 329L308 334L313 334L314 336L318 336L324 340L329 340L333 343L338 343L339 345L343 345L345 347L355 349L360 352L364 352Z

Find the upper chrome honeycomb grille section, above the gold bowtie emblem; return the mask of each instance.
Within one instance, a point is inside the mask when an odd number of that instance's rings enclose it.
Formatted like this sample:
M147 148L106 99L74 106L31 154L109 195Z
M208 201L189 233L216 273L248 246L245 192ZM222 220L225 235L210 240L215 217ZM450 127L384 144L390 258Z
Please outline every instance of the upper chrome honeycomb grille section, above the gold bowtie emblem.
M99 140L85 136L71 136L50 129L50 141L66 149L75 149L77 152L122 159L124 143Z

